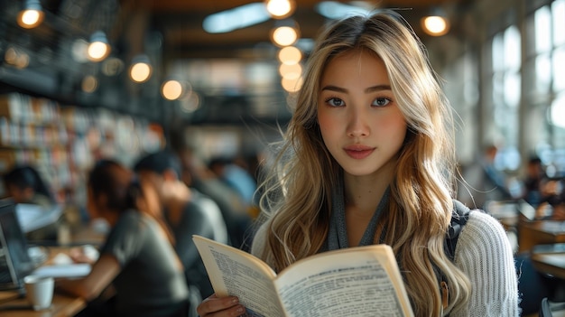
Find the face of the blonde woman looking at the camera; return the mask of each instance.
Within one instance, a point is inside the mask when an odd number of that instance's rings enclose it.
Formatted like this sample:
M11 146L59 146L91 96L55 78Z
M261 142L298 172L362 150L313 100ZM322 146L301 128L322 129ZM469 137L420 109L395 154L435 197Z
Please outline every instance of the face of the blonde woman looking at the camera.
M329 153L353 176L393 172L406 121L384 62L368 51L329 61L320 81L318 122Z

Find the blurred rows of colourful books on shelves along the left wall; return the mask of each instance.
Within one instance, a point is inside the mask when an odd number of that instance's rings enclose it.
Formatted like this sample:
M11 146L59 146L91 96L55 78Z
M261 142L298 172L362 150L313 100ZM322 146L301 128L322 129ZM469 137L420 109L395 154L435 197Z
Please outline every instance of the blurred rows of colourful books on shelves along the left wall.
M0 174L31 164L55 191L78 185L99 157L133 160L163 145L162 127L144 118L21 93L0 95Z

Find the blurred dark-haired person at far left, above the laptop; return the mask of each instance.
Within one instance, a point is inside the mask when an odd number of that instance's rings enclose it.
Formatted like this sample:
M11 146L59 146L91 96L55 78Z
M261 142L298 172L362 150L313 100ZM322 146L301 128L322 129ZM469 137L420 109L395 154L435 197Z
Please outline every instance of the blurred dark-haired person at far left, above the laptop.
M8 196L16 203L31 203L49 208L56 202L47 183L31 165L16 165L3 178Z

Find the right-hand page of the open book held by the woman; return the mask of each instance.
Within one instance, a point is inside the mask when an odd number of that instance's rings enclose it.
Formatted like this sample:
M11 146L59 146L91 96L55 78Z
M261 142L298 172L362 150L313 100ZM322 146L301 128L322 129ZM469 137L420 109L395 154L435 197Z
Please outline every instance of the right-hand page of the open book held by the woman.
M413 316L392 249L386 247L321 253L283 270L275 285L287 316Z

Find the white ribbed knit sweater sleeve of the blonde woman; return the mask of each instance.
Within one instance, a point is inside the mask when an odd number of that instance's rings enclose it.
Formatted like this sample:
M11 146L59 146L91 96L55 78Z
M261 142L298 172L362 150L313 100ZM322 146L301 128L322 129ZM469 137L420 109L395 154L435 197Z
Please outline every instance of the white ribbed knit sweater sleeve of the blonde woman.
M519 316L514 256L505 229L492 216L471 211L455 250L455 265L471 282L468 305L450 316Z

